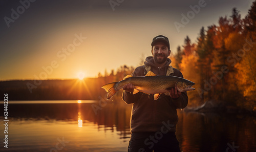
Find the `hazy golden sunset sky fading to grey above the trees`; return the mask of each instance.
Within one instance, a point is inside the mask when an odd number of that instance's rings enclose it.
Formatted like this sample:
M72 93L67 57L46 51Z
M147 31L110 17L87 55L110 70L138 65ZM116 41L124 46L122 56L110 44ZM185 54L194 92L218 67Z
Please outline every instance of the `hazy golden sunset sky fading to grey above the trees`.
M0 1L0 81L96 77L140 66L157 35L170 50L253 0ZM183 17L185 16L185 17ZM179 25L179 26L178 26ZM143 59L144 60L144 59Z

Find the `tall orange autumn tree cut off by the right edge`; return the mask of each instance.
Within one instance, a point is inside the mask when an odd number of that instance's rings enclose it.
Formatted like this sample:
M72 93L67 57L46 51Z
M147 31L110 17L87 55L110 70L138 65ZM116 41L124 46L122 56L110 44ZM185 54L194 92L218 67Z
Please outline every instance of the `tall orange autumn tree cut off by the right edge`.
M248 15L243 20L243 25L245 39L243 48L241 47L240 54L238 54L240 60L236 62L235 67L238 69L236 78L239 92L246 100L237 101L237 104L256 110L256 1L253 2Z

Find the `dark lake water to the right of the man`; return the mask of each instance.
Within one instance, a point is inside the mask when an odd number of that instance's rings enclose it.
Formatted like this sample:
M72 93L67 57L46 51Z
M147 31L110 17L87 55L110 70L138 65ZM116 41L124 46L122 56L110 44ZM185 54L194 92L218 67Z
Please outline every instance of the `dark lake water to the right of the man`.
M256 150L256 118L248 115L179 112L177 139L183 151ZM231 151L231 150L229 150Z

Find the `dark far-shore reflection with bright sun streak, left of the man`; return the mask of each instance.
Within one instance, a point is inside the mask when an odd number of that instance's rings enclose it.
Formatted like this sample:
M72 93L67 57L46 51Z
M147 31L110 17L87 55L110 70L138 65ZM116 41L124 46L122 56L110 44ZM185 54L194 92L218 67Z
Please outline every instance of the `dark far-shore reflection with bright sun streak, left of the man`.
M17 101L18 102L18 101ZM85 122L92 122L98 126L98 131L116 129L120 139L130 138L130 114L132 105L124 102L117 104L106 104L101 110L94 112L92 105L97 102L81 103L45 103L45 104L9 104L9 117L16 120L48 120L48 121L76 121L78 127L86 125Z

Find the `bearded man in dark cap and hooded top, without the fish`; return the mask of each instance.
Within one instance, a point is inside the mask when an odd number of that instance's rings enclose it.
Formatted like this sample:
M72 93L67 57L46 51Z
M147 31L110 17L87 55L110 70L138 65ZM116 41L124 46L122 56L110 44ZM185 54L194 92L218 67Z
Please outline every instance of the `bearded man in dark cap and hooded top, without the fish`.
M132 75L145 76L148 71L156 75L172 75L182 77L182 73L169 66L172 62L170 45L167 37L159 35L153 38L152 55L146 57L144 66L137 67ZM176 139L176 124L178 122L177 108L187 105L186 92L179 92L173 88L167 94L161 94L157 100L153 95L139 92L133 94L134 85L129 83L123 86L122 99L127 104L133 103L131 114L131 140L129 152L153 151L180 151L179 142Z

